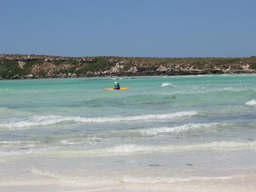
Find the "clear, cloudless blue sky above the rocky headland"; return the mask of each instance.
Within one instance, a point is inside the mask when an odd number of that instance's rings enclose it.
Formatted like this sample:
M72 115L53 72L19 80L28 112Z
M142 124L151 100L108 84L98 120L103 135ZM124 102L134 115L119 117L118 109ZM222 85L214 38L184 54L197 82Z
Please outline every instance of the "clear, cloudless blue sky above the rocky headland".
M0 0L0 54L256 56L256 0Z

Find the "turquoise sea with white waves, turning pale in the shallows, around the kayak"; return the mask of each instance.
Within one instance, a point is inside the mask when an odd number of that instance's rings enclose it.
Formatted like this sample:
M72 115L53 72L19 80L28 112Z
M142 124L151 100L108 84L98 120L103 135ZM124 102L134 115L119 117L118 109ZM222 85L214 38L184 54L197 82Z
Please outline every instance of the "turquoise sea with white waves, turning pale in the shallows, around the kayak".
M1 80L0 191L255 192L255 112L256 74Z

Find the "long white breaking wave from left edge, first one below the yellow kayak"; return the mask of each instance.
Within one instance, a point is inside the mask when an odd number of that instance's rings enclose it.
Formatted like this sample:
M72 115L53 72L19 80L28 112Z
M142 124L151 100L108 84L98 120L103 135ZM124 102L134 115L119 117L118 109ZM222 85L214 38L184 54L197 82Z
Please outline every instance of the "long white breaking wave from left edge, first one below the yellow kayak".
M181 111L169 114L147 114L138 116L119 116L115 117L103 117L103 118L85 118L80 116L32 116L23 120L8 120L6 122L0 122L0 128L24 128L28 126L40 126L55 124L58 122L74 121L83 123L107 123L107 122L123 122L123 121L146 121L146 120L161 120L172 119L183 116L197 115L197 111Z

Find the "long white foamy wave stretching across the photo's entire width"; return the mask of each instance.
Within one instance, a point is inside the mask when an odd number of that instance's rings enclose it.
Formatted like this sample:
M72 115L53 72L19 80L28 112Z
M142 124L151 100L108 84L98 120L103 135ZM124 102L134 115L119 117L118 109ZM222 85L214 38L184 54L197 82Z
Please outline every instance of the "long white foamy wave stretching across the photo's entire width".
M154 152L177 152L177 151L192 151L192 150L238 150L238 149L256 149L256 141L235 142L235 141L220 141L209 143L198 143L191 145L136 145L122 144L110 146L106 148L95 148L88 150L60 150L55 147L34 148L30 150L1 152L2 156L22 156L29 154L38 154L43 156L116 156L130 154L149 154Z

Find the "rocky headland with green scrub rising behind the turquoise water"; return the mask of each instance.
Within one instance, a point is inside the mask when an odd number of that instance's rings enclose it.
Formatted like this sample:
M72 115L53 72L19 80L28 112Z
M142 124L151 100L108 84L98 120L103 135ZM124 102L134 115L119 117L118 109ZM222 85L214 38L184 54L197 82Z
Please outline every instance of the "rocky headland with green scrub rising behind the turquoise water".
M0 80L256 73L256 57L138 58L0 54Z

